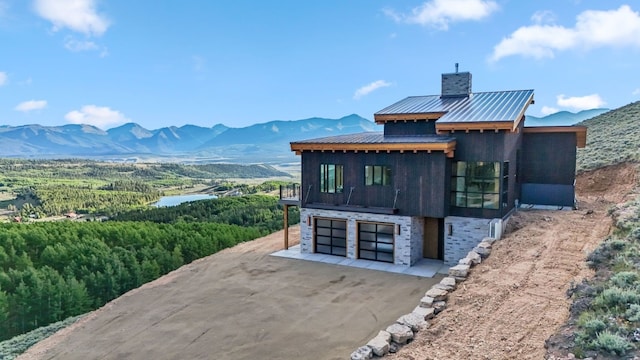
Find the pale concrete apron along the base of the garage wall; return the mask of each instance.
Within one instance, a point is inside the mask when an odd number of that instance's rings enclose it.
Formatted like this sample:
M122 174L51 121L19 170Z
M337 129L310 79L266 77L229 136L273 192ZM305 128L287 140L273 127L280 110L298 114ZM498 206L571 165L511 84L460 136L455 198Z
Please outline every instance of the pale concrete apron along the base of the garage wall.
M414 275L428 278L434 277L436 274L446 275L449 271L449 267L444 265L441 260L420 259L413 266L407 267L379 261L347 259L342 256L326 254L303 254L300 252L300 245L292 246L288 250L276 251L271 255L289 259L308 260L326 264L351 266L361 269L386 271L396 274Z

